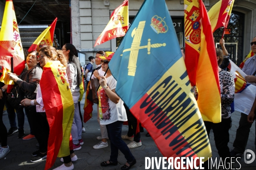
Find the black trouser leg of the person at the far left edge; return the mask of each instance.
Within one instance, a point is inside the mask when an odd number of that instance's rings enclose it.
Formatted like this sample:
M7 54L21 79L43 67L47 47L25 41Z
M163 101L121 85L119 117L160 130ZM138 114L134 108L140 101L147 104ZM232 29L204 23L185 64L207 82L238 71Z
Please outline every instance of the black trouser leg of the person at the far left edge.
M3 124L3 108L6 102L6 94L3 93L2 99L0 99L0 142L3 147L7 146L7 129Z

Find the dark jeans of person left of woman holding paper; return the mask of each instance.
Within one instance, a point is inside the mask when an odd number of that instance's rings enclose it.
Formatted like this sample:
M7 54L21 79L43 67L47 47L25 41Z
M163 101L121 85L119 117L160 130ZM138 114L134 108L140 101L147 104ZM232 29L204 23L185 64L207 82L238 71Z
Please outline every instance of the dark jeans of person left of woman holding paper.
M10 125L11 127L14 127L16 128L17 125L16 125L16 114L15 114L15 110L16 110L16 113L17 113L17 119L18 119L18 129L23 129L23 126L24 126L24 112L23 112L23 108L20 108L20 109L14 109L12 107L12 104L9 103L8 101L6 101L6 111L8 113L8 118L9 118L9 122L10 122Z

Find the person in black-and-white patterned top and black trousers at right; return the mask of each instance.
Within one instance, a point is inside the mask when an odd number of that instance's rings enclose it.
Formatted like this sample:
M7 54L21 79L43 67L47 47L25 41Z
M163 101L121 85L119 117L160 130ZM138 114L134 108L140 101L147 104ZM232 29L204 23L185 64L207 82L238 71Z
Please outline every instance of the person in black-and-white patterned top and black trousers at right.
M216 48L216 55L218 65L221 65L221 62L223 61L223 51L220 48ZM204 121L204 125L208 136L210 130L213 130L215 146L219 156L224 160L230 157L230 150L227 144L229 142L229 129L232 123L230 105L234 101L235 82L232 74L228 71L218 68L218 74L221 88L221 122L212 123ZM194 89L196 89L196 87ZM198 94L195 93L195 96L197 97ZM204 162L204 167L208 169L208 162Z

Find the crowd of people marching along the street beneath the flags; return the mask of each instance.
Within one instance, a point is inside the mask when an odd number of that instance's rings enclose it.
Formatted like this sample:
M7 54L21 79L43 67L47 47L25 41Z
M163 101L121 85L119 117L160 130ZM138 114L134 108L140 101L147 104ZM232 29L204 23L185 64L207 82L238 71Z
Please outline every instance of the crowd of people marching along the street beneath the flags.
M227 71L229 54L224 46L223 39L221 39L220 45L222 50L216 48L216 58L219 65L222 119L220 123L204 122L204 124L208 136L210 130L213 130L218 154L225 159L243 155L250 127L255 120L256 100L248 116L241 113L236 139L233 144L234 149L230 151L228 142L229 129L232 125L231 113L233 110L235 81L232 74ZM251 49L256 54L256 37L251 42ZM181 48L181 52L185 57L185 48ZM92 101L97 104L97 120L101 130L101 136L97 136L100 142L94 145L93 148L108 147L108 140L111 145L110 159L103 161L101 166L117 165L119 150L127 160L125 165L121 167L122 170L128 170L136 164L136 159L130 149L142 145L140 131L143 132L143 127L132 115L122 99L115 93L116 79L114 79L111 70L108 68L108 63L111 61L113 54L113 52L98 51L96 57L89 57L89 63L82 68L76 48L70 43L65 44L62 50L45 46L40 48L39 51L30 51L26 55L27 67L23 73L19 76L8 73L9 78L15 82L11 92L16 91L20 96L25 96L18 105L15 105L13 100L9 100L9 94L6 93L8 86L0 82L0 159L10 152L10 148L7 145L7 136L18 132L18 138L23 138L24 140L36 138L38 141L36 147L39 149L32 153L31 162L41 161L50 156L55 161L56 158L54 156L58 155L64 164L55 168L55 170L72 170L74 168L73 161L78 159L74 151L80 150L81 145L84 144L82 132L85 129L80 110L80 101L84 95L84 78L86 87L89 86L91 93L94 94ZM96 64L95 69L93 69L94 62ZM247 82L256 82L256 55L247 59L242 71L247 74L245 77ZM56 89L58 91L55 91ZM197 98L196 86L193 89L195 98ZM8 132L3 124L4 106L6 106L10 123ZM25 136L23 130L24 111L30 127L28 136ZM15 121L16 114L18 128ZM61 117L58 117L60 115ZM63 138L61 138L61 142L55 142L58 144L53 144L55 130L50 128L56 125L55 116L56 119L57 117L63 117L61 124L58 124L60 126L58 128L63 130L63 133L61 133ZM128 133L121 136L122 125L126 121L128 121ZM147 133L146 136L150 136L150 134ZM125 144L122 139L130 140L131 143ZM49 146L49 144L54 146ZM49 155L49 149L58 153L55 153L54 156ZM205 168L207 169L208 167L206 166Z

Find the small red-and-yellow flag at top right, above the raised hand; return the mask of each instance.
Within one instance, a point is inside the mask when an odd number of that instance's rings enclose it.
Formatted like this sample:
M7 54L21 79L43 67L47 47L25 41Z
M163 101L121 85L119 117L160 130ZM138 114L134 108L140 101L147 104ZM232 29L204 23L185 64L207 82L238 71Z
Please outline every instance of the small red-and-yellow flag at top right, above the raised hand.
M220 0L208 11L212 33L221 27L227 28L235 0Z

